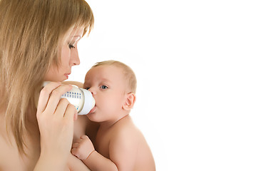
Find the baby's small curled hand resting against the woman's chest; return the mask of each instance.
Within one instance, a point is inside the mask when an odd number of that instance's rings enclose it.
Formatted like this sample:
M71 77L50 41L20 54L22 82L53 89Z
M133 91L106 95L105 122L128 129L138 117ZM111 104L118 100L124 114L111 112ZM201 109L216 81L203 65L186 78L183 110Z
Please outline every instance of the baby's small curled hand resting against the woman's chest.
M72 154L76 155L80 160L86 160L87 157L91 155L91 152L95 150L93 143L86 135L82 135L78 142L73 143L72 147Z

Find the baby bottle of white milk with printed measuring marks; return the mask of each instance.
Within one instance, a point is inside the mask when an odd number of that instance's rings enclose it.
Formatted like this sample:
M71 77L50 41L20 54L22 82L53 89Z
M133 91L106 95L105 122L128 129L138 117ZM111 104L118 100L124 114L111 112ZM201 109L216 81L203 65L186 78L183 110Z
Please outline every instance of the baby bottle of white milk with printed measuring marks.
M46 86L47 82L43 83L43 86ZM78 88L77 86L72 85L73 88L61 95L61 98L66 98L69 103L76 107L78 115L86 115L95 105L95 100L91 91Z

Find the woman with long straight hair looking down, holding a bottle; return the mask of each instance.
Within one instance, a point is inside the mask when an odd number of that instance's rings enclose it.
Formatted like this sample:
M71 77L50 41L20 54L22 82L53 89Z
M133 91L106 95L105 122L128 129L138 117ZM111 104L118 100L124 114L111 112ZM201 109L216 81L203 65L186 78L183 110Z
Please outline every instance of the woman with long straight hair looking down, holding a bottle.
M0 170L80 162L70 149L86 118L76 120L76 108L59 99L71 90L61 81L80 63L77 43L93 21L83 0L0 0ZM53 83L42 89L43 81Z

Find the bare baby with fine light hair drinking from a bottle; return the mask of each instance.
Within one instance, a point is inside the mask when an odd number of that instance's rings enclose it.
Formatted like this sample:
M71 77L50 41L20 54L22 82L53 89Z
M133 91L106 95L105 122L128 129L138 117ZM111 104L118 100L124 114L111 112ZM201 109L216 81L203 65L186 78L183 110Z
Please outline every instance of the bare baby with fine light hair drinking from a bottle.
M82 135L71 152L91 170L155 170L150 147L130 118L135 103L135 74L119 61L96 63L83 88L96 100L87 117L99 123L96 141Z

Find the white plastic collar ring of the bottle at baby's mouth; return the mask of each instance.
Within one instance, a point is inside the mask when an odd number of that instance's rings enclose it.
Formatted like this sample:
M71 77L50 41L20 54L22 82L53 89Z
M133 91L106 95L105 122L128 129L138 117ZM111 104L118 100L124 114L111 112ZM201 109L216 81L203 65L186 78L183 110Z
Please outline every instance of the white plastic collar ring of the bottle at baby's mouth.
M83 102L83 107L82 107L81 111L78 113L78 115L86 115L94 107L95 100L93 98L91 91L83 89L83 88L79 88L79 89L83 92L84 102Z

